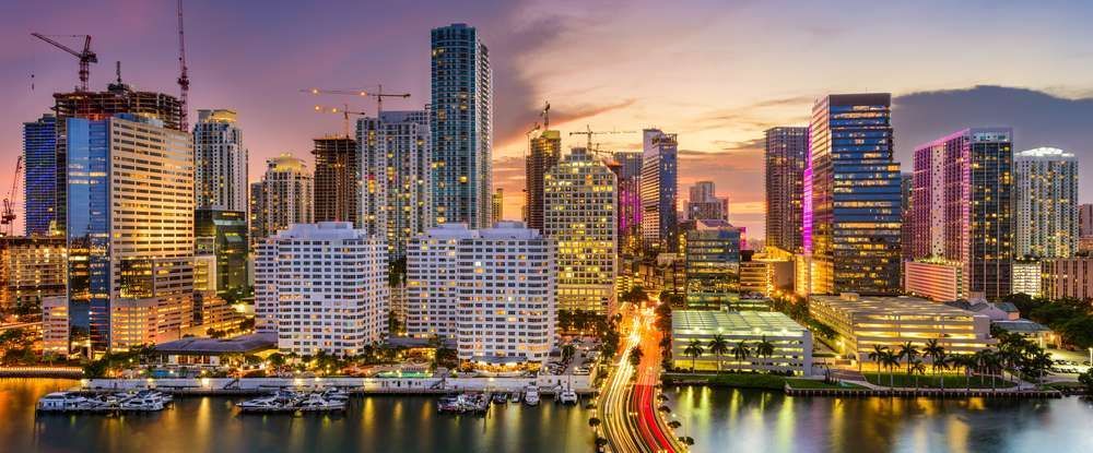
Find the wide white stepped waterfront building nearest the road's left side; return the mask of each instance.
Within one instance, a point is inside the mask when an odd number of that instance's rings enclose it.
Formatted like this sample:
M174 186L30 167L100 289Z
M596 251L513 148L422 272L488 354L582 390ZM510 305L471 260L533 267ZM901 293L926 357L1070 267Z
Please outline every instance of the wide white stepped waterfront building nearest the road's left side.
M414 238L407 257L408 334L455 338L479 366L545 362L556 342L557 247L502 222L445 224Z

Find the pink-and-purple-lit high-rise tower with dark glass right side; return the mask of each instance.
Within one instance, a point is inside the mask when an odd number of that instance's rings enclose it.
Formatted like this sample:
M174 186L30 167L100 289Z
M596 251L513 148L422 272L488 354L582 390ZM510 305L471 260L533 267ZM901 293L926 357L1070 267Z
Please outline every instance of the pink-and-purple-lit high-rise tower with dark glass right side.
M962 294L1010 294L1013 151L1009 128L964 129L915 151L910 259L962 266Z

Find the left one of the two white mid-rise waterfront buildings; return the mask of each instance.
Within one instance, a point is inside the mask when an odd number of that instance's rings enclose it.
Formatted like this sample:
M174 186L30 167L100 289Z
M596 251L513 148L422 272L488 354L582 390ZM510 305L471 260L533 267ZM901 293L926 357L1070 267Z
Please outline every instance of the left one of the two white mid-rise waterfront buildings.
M355 356L387 336L387 245L349 222L297 224L255 261L255 327L286 353Z

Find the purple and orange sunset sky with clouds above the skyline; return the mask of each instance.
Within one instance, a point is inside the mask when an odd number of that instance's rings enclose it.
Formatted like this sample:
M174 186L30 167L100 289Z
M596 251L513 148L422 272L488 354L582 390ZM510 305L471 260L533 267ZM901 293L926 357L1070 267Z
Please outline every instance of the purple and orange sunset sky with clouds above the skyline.
M892 4L889 4L892 3ZM898 3L898 4L896 4ZM591 5L590 5L591 4ZM310 158L310 139L340 132L316 104L374 111L372 100L313 97L306 87L412 93L428 102L428 31L478 27L496 91L494 182L506 217L522 204L524 133L543 100L567 132L658 127L679 133L680 189L710 179L730 220L763 235L763 131L803 126L827 93L891 92L897 158L964 127L1012 126L1016 150L1090 156L1093 5L1062 1L187 1L190 115L239 114L250 179L282 152ZM11 186L21 126L77 83L75 58L31 32L91 34L93 88L122 78L177 94L173 0L0 4L0 183ZM72 46L75 47L75 39ZM32 90L33 74L33 90ZM636 150L639 134L609 135ZM1084 164L1084 162L1083 162ZM1093 166L1082 165L1082 202Z

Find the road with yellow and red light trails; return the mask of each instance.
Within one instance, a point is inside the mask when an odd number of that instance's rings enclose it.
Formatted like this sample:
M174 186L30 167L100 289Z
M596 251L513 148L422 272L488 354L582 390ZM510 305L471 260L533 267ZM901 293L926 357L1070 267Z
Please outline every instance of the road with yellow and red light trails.
M683 452L683 448L657 413L656 384L660 375L660 334L649 311L624 318L630 335L620 345L619 362L608 377L600 397L602 426L611 452ZM635 369L630 351L642 347L642 362ZM636 373L636 379L631 382Z

